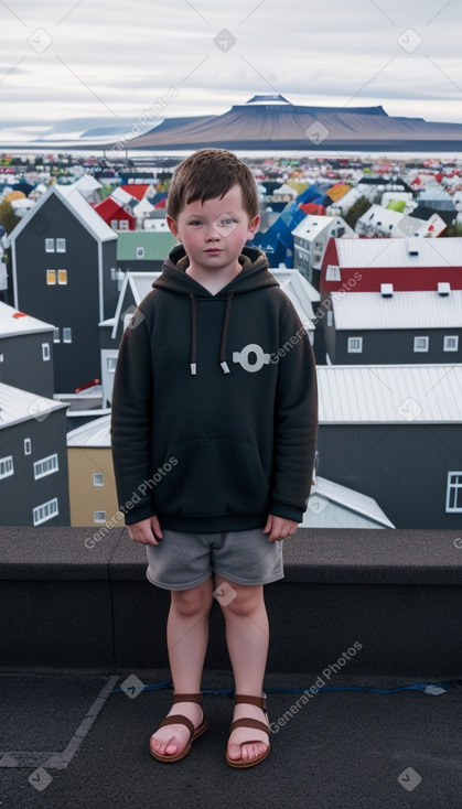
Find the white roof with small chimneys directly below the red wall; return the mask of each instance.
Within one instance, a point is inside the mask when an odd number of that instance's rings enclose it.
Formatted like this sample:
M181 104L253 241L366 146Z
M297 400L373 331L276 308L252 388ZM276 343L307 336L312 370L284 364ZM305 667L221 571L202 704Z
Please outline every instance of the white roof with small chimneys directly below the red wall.
M449 295L434 292L350 292L333 295L335 327L355 328L462 328L462 290Z

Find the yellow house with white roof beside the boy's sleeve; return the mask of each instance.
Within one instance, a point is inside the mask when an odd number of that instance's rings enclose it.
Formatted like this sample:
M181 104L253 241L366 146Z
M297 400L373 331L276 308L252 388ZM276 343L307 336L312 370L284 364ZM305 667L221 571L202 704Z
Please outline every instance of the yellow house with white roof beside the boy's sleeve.
M71 525L101 527L117 519L110 416L67 433Z

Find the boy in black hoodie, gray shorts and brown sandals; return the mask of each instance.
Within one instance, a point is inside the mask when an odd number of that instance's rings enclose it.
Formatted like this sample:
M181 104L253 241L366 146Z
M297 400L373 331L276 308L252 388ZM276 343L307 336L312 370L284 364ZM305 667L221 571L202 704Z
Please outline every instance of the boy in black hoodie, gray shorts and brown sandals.
M248 166L225 150L194 153L174 173L166 220L181 245L125 332L112 398L120 508L147 546L149 581L171 591L174 706L150 752L179 761L207 729L215 594L235 680L226 761L249 767L270 747L264 584L283 578L282 540L310 493L313 354L265 254L244 247L259 224Z

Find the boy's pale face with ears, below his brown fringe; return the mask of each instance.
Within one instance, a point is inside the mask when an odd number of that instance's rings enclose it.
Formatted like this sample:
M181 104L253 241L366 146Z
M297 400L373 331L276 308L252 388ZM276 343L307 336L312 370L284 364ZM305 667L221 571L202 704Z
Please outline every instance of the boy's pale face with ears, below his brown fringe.
M185 205L176 219L166 217L172 234L182 242L194 272L226 273L240 269L237 258L260 222L249 219L243 207L240 185L234 185L223 198L201 199Z

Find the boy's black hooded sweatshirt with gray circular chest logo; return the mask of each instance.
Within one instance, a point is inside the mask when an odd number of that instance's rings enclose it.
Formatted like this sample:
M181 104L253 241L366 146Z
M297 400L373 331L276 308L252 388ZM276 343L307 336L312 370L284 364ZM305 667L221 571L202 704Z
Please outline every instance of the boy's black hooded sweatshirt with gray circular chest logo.
M318 427L313 353L261 250L212 294L175 247L126 328L112 456L127 525L190 532L301 521Z

